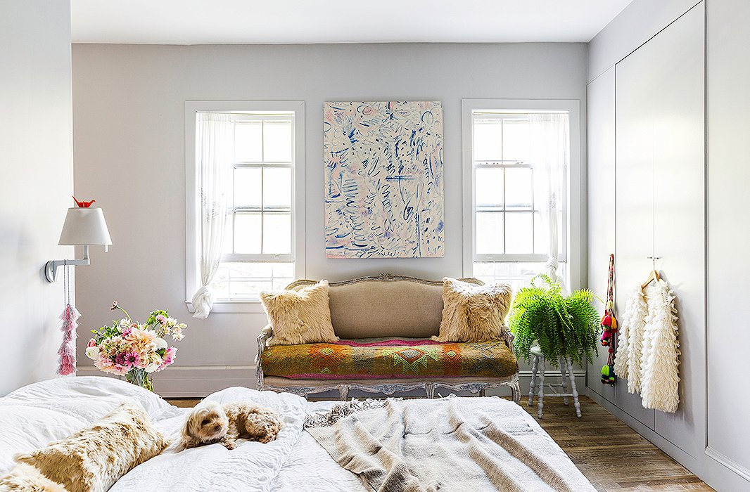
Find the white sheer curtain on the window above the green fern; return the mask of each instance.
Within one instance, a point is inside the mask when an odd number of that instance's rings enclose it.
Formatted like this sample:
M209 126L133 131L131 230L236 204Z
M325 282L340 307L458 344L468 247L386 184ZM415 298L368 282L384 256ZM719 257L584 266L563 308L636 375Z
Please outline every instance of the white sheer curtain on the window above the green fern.
M568 114L529 114L531 165L534 169L534 201L538 204L542 230L549 231L549 250L544 271L567 291L565 280L557 272L563 186L568 169Z

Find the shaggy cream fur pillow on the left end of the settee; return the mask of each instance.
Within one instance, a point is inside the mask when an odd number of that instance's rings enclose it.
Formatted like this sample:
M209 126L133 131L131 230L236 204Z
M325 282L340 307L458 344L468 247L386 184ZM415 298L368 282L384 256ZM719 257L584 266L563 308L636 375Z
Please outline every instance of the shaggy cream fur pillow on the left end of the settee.
M260 301L274 330L269 345L338 341L331 324L328 280L299 291L261 292Z

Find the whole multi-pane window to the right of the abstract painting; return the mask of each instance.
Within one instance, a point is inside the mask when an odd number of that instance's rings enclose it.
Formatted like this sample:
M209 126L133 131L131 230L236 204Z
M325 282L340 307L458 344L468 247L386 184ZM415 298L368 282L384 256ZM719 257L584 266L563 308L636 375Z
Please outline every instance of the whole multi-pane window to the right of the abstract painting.
M544 103L463 101L467 276L517 289L555 255L568 277L570 109Z

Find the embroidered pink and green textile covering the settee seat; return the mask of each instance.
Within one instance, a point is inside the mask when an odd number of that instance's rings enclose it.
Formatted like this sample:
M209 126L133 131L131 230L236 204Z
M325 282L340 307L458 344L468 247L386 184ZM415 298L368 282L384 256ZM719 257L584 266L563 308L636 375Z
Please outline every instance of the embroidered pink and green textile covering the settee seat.
M440 343L409 338L274 345L261 356L263 372L293 379L390 377L508 377L517 361L505 341Z

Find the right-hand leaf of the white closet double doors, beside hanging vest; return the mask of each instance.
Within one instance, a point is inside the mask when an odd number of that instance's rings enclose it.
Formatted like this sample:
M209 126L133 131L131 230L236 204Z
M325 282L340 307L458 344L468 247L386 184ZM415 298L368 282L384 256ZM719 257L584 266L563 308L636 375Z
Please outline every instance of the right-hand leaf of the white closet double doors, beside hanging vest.
M705 145L703 4L646 43L656 64L654 140L656 267L676 294L679 410L655 413L654 430L688 454L705 446Z

